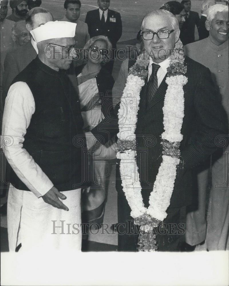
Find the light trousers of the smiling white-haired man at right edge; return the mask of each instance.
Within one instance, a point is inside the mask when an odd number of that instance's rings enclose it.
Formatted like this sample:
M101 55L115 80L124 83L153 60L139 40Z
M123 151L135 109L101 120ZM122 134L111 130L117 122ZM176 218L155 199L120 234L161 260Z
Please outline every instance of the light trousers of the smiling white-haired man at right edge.
M225 250L229 248L229 188L226 153L213 161L207 223L205 205L208 169L198 174L199 206L198 210L187 214L186 242L190 245L196 245L206 239L206 246L209 250Z

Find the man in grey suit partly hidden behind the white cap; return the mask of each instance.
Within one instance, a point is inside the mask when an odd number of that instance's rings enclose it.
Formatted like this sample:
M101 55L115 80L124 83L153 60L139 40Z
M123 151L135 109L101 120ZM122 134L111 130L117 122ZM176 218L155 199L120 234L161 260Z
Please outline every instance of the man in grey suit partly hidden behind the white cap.
M49 21L53 21L52 14L42 7L35 7L28 12L26 27L28 31L32 31ZM37 44L31 39L31 41L23 47L19 47L7 53L3 74L3 102L5 101L8 89L15 76L35 59L37 52Z

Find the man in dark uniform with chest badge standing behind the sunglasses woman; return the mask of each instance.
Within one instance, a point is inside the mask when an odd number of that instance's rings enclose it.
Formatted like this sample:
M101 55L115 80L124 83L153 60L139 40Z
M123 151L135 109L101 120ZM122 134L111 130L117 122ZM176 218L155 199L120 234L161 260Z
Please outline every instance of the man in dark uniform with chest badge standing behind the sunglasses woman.
M116 44L122 35L122 21L120 13L108 9L110 1L97 1L99 9L88 11L85 23L88 24L90 37L103 35L108 37L112 43L112 59L105 65L106 69L112 73L114 59L116 55Z

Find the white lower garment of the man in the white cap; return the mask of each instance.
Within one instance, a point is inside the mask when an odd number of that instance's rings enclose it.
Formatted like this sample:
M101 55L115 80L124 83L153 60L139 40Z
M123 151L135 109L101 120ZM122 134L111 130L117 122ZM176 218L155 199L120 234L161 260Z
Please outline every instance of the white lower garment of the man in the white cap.
M15 251L20 243L22 251L81 250L81 189L62 193L67 197L63 203L69 211L45 203L32 192L9 188L7 229L10 251Z

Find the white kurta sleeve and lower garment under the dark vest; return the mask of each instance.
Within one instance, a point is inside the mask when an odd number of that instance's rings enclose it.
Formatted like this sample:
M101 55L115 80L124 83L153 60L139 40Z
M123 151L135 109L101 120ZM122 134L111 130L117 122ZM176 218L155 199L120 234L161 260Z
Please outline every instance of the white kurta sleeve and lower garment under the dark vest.
M55 228L64 221L64 233L70 233L74 223L81 223L81 189L63 192L67 197L63 203L69 211L54 208L44 202L43 196L53 186L51 180L23 148L24 136L35 112L35 102L31 90L25 82L13 84L7 94L3 114L1 148L19 179L31 190L9 188L7 223L9 249L15 251L19 243L22 250L28 249L81 249L81 229L76 234L60 234L62 228ZM58 234L59 233L59 234Z

